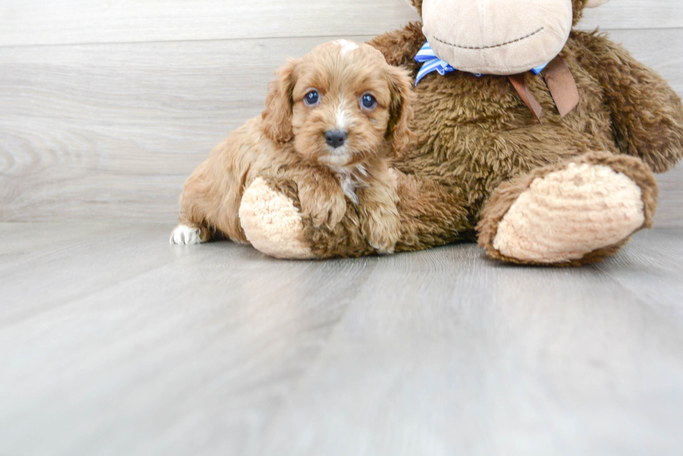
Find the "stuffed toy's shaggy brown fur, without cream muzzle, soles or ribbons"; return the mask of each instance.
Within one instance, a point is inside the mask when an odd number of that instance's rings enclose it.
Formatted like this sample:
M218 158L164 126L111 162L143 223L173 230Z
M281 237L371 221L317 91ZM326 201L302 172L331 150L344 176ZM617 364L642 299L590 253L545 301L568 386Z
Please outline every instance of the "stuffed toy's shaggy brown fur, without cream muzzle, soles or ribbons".
M574 24L587 3L572 1ZM414 0L413 5L420 11L422 1ZM420 65L413 58L424 42L422 24L413 23L369 44L414 78ZM498 223L535 179L582 164L608 166L631 179L642 198L642 203L629 202L638 203L643 211L643 223L636 230L651 226L657 203L652 171L667 171L683 156L680 98L658 74L599 33L571 31L560 56L581 96L565 118L542 77L530 72L523 78L543 108L540 122L505 76L433 73L417 85L415 119L410 124L415 137L394 160L401 221L396 251L478 239L492 258L518 263L581 265L615 253L631 233L597 249L587 247L580 258L550 261L510 258L493 245ZM566 184L581 187L581 182ZM300 205L283 182L273 184L273 191ZM612 203L610 195L599 198ZM302 236L312 255L374 252L358 228L359 218L358 210L347 207L346 216L335 226L318 228L303 219Z

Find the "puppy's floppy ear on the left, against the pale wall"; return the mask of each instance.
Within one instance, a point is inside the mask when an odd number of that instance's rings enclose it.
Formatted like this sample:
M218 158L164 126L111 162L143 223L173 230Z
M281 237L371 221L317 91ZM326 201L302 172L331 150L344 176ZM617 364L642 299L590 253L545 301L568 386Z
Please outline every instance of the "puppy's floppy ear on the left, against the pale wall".
M276 143L292 139L292 91L297 61L289 61L277 70L277 80L268 85L266 109L261 113L263 134Z

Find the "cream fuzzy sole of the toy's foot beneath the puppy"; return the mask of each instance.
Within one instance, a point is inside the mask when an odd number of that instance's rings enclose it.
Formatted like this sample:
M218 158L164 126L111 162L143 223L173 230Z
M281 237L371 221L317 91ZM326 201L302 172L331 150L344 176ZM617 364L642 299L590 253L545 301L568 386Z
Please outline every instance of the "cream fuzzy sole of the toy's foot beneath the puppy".
M312 258L299 210L291 198L256 178L240 204L240 223L255 249L276 258Z

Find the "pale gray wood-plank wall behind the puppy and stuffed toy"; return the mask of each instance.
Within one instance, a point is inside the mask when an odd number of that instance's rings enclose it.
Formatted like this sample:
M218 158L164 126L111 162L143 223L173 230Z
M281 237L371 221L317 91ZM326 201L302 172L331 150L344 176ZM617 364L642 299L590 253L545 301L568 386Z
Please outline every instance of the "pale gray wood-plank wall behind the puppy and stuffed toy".
M286 56L417 19L403 0L3 0L0 221L174 223L187 175L256 116ZM683 94L683 2L612 0L610 31ZM683 226L682 167L659 226Z

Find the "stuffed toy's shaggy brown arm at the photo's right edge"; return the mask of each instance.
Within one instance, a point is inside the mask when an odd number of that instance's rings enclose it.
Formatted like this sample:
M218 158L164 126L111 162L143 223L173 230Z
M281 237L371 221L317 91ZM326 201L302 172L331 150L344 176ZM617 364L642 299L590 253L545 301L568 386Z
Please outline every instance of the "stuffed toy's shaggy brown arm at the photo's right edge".
M577 58L605 93L615 143L661 173L683 157L683 106L667 82L620 45L574 32Z

